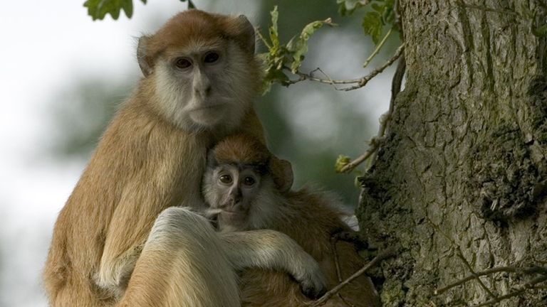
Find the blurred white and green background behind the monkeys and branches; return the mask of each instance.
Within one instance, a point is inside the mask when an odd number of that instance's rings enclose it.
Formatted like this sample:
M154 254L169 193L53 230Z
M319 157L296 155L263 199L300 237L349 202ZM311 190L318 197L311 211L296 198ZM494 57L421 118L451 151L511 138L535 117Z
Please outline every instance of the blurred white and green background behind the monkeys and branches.
M122 14L118 21L92 21L83 2L6 1L0 10L0 306L46 306L40 274L53 223L105 125L140 77L136 38L187 6L135 0L131 19ZM302 71L321 68L333 79L366 75L395 49L388 43L363 69L374 45L361 29L362 14L339 16L335 0L194 4L245 14L263 33L278 5L283 42L306 23L332 17L339 26L311 38ZM272 151L293 163L296 188L315 183L355 207L356 174L336 174L335 159L367 149L387 111L394 69L352 92L300 82L274 85L256 102Z

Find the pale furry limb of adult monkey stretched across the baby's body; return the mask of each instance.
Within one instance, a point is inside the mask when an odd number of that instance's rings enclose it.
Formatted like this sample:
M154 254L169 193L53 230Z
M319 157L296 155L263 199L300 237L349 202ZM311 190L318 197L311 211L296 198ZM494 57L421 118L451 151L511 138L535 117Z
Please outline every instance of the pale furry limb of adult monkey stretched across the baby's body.
M220 235L236 270L280 269L291 274L308 297L317 298L326 291L326 278L319 264L288 235L274 230L221 232Z

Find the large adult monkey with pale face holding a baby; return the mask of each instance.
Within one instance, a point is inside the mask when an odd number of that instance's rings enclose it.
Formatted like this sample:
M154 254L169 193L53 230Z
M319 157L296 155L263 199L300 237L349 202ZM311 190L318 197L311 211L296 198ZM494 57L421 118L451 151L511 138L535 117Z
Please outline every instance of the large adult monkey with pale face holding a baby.
M285 235L219 237L202 217L172 208L202 210L216 141L234 131L264 141L251 105L261 82L254 40L244 16L197 10L140 38L144 78L53 230L43 274L52 306L239 306L234 269L251 265L287 269L308 293L323 290L317 263Z

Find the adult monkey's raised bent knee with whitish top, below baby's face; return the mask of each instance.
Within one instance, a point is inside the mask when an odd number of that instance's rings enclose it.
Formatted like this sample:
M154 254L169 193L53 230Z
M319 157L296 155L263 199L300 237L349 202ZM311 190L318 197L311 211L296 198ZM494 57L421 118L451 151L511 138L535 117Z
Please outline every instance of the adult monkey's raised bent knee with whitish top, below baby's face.
M241 306L235 271L209 222L185 208L164 210L119 306Z

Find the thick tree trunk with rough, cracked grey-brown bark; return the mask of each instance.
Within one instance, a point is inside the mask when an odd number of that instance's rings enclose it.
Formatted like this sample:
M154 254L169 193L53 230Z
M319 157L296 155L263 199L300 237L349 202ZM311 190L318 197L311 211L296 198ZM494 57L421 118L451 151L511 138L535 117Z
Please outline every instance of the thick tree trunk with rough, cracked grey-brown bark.
M399 2L406 85L358 209L371 244L400 247L382 263L382 301L495 301L545 273L487 274L434 291L499 266L547 266L547 43L533 34L547 4ZM496 306L547 306L547 291Z

